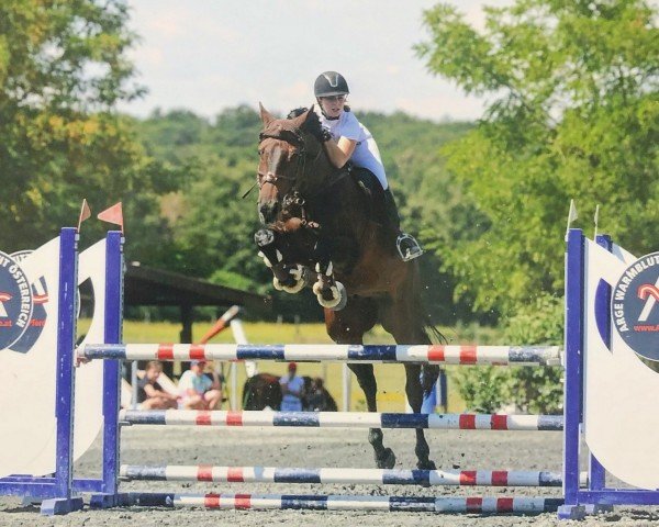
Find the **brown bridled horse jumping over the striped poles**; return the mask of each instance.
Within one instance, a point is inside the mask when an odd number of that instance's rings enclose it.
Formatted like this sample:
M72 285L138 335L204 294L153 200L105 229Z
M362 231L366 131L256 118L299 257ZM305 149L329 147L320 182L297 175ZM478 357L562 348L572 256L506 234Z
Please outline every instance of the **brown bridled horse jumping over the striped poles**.
M365 333L377 323L398 344L428 345L431 335L443 339L422 305L417 261L400 258L395 233L378 214L378 197L372 193L380 187L369 191L360 178L332 165L313 106L292 119L276 119L259 106L264 128L256 183L263 228L255 242L275 287L297 293L312 285L324 309L327 334L337 344L362 344ZM368 411L377 412L372 365L348 366ZM404 368L407 401L420 413L439 367L405 363ZM423 429L415 431L416 467L435 470ZM384 447L382 430L370 428L368 440L377 467L393 468L395 455Z

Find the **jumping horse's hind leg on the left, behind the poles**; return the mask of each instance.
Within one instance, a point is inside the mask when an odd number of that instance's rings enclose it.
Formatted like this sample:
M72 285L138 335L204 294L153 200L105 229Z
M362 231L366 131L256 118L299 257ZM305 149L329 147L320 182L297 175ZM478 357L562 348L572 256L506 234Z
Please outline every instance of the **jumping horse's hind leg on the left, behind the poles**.
M376 314L377 307L371 300L353 298L343 311L325 310L327 334L337 344L362 344L364 334L376 324ZM377 412L378 384L373 366L354 362L349 363L348 368L357 377L357 382L366 396L368 411ZM382 437L380 428L368 430L368 442L373 447L376 464L379 469L392 469L395 464L395 456L391 448L384 447Z

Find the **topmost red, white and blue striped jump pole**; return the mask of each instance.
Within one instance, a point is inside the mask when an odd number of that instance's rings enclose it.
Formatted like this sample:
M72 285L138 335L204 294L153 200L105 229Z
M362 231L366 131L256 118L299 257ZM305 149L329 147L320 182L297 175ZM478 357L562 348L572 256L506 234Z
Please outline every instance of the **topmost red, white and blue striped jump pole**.
M560 366L558 346L438 346L338 344L88 344L87 359L283 360L297 362L414 362L432 365Z

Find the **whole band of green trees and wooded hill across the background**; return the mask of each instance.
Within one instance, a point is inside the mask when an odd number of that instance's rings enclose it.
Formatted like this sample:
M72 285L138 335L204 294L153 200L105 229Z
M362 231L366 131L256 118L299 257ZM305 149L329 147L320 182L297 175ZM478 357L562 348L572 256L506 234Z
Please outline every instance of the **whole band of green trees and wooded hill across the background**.
M214 120L118 113L118 101L143 93L126 57L129 16L121 0L0 4L0 247L48 239L75 223L82 198L96 211L122 201L127 258L271 292L252 243L254 198L241 199L255 178L255 109ZM429 75L491 101L481 120L359 119L380 145L403 226L427 249L435 319L512 327L560 304L570 198L584 227L600 204L600 228L621 244L656 244L657 10L517 0L485 18L477 31L438 3L410 43ZM83 239L96 239L104 226L88 223Z

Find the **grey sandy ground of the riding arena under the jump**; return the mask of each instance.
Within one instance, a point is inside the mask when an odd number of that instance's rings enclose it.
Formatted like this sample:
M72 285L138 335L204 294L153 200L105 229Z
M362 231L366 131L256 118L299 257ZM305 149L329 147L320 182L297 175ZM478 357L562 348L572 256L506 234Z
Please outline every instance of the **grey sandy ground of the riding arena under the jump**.
M134 464L223 464L266 467L373 468L367 430L283 428L190 428L130 427L122 434L122 462ZM428 430L433 459L439 469L461 470L552 470L560 471L561 434ZM396 468L413 468L413 430L386 430L386 445L396 456ZM94 475L100 447L92 448L77 463L77 473ZM181 493L244 492L295 494L381 495L536 495L559 496L560 489L432 487L403 485L313 485L313 484L202 484L179 482L130 482L122 490ZM659 507L616 508L578 525L650 526L659 524ZM0 497L1 527L42 526L557 526L555 513L539 516L437 515L432 513L372 513L314 511L203 511L196 508L125 508L81 512L42 517L36 507L15 498Z

